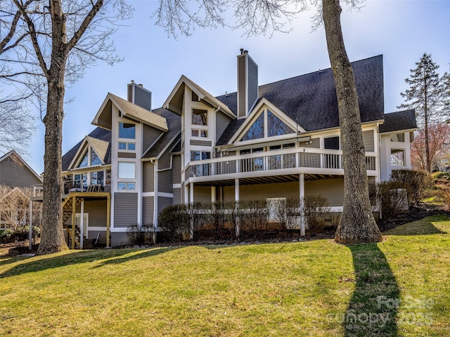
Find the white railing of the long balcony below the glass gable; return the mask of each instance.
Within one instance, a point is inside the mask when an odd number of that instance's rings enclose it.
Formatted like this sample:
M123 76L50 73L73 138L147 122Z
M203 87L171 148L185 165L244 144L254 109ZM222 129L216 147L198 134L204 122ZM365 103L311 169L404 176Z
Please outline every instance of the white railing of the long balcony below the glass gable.
M368 171L377 169L377 154L366 154ZM342 169L342 151L290 148L191 162L186 178L283 169Z

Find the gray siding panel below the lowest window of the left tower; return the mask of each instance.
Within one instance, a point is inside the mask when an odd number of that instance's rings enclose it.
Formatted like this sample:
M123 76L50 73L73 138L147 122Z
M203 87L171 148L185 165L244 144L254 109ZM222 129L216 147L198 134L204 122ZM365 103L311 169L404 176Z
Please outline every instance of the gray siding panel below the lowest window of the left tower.
M114 194L114 227L128 227L138 223L138 194Z

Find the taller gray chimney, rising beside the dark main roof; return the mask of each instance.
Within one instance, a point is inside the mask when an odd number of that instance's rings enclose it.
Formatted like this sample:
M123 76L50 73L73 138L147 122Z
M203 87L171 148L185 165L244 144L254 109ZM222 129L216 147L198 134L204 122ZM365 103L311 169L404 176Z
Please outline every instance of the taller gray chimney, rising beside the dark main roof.
M246 118L258 99L258 66L248 51L238 55L238 119Z

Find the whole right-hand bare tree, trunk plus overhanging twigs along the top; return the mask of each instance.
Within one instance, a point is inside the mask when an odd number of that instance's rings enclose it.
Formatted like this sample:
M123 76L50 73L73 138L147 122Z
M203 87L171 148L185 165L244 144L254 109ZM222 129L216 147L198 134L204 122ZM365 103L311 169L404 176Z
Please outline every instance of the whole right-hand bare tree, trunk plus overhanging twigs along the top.
M358 7L364 0L343 0ZM336 231L335 240L343 244L378 242L380 230L375 223L368 197L368 183L364 143L361 132L358 95L352 65L345 51L340 25L339 0L311 1L319 8L314 21L323 22L328 45L328 55L335 78L338 95L339 117L344 161L344 210ZM155 12L158 25L168 34L180 31L189 34L191 29L224 25L222 13L232 7L236 23L234 27L245 29L248 35L266 32L288 32L289 24L300 11L308 8L306 0L204 0L192 10L185 0L161 0ZM211 15L210 15L211 14Z

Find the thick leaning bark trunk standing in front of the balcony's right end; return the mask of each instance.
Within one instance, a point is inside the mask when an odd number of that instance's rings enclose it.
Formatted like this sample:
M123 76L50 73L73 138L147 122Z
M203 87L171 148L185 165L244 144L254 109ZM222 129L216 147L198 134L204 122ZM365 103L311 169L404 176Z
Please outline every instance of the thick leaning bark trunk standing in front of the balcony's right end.
M380 242L381 233L373 218L368 197L361 116L353 69L342 37L341 8L339 0L323 0L322 4L328 55L338 97L344 167L344 209L335 241L342 244Z

